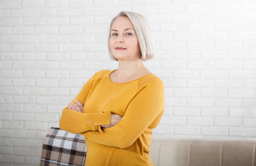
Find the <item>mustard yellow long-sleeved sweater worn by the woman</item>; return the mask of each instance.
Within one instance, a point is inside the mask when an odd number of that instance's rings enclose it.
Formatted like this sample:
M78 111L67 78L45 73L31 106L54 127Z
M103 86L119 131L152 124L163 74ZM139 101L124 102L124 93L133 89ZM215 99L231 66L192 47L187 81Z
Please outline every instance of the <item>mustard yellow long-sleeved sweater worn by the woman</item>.
M115 69L116 70L116 69ZM85 166L153 166L148 155L152 130L164 113L164 84L155 74L115 83L110 74L100 70L84 84L72 101L84 104L84 111L63 111L62 130L85 137ZM110 113L123 116L113 127Z

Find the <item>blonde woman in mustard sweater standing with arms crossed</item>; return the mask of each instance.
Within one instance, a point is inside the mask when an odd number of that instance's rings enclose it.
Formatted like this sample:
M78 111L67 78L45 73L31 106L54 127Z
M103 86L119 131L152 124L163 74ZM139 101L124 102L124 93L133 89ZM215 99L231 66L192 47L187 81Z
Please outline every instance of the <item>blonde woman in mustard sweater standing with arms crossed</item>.
M88 79L59 124L85 137L85 166L153 166L152 130L164 113L164 84L142 63L153 57L153 45L142 15L122 11L111 21L108 52L118 69Z

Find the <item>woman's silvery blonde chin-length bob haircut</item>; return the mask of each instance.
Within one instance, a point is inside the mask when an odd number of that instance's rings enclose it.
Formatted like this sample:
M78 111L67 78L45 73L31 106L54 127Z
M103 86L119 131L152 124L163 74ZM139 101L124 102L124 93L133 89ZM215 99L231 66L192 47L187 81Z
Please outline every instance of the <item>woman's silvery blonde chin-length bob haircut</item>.
M110 26L109 26L108 54L110 56L110 59L118 61L118 59L116 59L111 53L110 46L109 46L109 40L110 40L110 35L111 35L110 31L111 31L112 24L115 21L115 19L117 19L120 16L128 17L133 24L133 27L135 29L135 32L136 32L136 35L138 38L138 43L141 48L141 56L140 56L141 60L147 61L147 60L153 58L154 57L154 39L153 39L152 31L150 29L150 26L149 26L146 18L143 17L143 15L136 13L136 12L121 11L118 13L118 15L116 15L111 20Z

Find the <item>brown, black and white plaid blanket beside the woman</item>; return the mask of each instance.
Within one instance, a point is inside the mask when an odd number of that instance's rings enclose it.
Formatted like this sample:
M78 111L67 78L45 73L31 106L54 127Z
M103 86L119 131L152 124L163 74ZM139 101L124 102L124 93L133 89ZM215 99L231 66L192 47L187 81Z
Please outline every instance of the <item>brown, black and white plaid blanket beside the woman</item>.
M40 166L84 166L85 138L51 127L44 138Z

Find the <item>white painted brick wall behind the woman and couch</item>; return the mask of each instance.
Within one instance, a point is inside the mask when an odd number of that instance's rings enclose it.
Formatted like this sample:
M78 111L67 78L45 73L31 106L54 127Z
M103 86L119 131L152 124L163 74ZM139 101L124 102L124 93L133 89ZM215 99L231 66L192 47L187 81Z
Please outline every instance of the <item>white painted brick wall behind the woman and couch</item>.
M121 10L151 25L165 110L154 137L256 138L254 0L0 0L0 163L37 166L61 111L110 60Z

